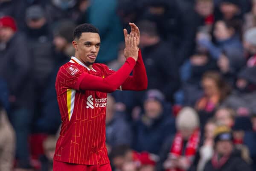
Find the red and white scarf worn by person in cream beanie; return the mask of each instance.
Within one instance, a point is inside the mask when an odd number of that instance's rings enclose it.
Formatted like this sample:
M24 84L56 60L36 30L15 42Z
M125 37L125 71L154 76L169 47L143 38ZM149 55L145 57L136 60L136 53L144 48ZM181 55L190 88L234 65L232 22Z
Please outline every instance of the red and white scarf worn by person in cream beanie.
M186 144L185 157L187 158L187 161L189 162L190 165L192 164L193 159L195 158L195 153L197 152L199 141L200 141L200 130L198 128L192 133L192 135L189 137L189 140ZM182 156L183 143L184 141L182 139L181 133L177 132L173 140L171 151L170 151L170 155L172 155L172 157L179 158ZM166 171L183 171L183 170L179 168L174 168Z

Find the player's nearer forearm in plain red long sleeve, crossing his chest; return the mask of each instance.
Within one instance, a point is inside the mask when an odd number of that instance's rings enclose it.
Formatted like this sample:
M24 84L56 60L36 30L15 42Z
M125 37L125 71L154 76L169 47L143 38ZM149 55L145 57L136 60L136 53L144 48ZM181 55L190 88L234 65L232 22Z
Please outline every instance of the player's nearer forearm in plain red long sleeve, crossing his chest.
M136 61L133 58L128 58L125 61L125 64L117 72L106 78L85 74L81 80L79 88L80 90L95 90L111 93L123 84L133 70L135 64Z

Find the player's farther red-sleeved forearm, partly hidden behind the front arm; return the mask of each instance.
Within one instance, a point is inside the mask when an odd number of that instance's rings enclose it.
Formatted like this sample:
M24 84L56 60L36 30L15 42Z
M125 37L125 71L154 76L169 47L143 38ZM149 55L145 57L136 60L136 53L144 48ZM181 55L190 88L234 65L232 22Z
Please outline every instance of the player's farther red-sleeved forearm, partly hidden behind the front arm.
M138 61L134 67L133 75L129 76L122 84L122 90L145 90L148 87L148 78L143 63L141 51L139 51Z

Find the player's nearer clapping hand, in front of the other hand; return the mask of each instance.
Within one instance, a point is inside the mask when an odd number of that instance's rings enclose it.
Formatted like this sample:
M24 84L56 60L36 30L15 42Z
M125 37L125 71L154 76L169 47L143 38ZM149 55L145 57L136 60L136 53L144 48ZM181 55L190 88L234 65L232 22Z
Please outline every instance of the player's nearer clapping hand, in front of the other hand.
M137 41L136 36L131 33L130 35L127 34L127 30L124 29L125 35L125 58L132 57L135 61L138 59L138 49L137 49Z

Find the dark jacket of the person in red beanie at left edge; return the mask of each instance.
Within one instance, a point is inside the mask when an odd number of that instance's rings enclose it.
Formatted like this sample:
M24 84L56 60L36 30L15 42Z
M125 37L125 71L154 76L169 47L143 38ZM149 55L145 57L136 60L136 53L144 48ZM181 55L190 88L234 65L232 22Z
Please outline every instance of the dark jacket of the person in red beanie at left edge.
M0 51L0 77L6 80L10 95L16 96L12 107L28 107L33 99L31 75L31 58L26 37L16 33Z

